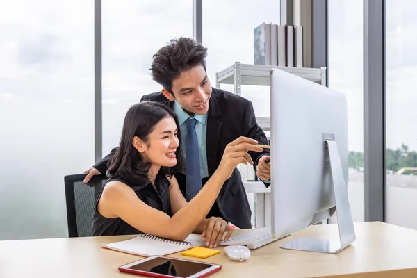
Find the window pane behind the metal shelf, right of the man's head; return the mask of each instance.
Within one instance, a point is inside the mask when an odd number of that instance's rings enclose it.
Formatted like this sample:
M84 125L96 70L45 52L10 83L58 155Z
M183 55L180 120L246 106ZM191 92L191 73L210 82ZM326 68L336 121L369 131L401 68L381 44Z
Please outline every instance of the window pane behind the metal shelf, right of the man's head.
M207 72L215 87L215 73L234 62L254 63L254 28L265 23L279 24L280 1L203 1L202 40L208 48ZM232 85L220 88L233 92ZM242 96L250 99L257 117L269 117L269 88L246 86Z

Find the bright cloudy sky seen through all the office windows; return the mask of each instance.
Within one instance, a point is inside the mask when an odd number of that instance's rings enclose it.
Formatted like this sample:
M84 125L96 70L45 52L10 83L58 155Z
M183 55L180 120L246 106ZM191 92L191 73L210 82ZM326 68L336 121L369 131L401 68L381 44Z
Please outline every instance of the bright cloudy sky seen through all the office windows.
M193 1L102 2L107 154L119 142L127 109L161 90L150 76L152 55L171 38L193 36ZM93 3L0 0L0 222L7 223L0 239L66 236L63 176L94 162ZM349 146L357 152L363 152L362 3L329 1L329 86L347 96ZM387 146L417 151L417 2L386 3ZM254 28L279 23L279 13L279 0L203 1L213 86L215 72L253 63ZM243 86L242 95L258 117L268 117L268 88Z

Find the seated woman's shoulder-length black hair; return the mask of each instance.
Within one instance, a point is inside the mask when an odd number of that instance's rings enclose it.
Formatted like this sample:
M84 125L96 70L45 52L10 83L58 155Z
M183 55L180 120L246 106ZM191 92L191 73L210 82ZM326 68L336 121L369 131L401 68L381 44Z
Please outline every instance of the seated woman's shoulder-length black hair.
M133 138L138 136L142 142L149 144L149 134L154 131L156 124L166 117L174 118L175 124L177 124L178 138L181 138L177 115L169 107L155 101L145 101L129 108L126 117L124 117L120 145L110 161L108 161L108 170L106 172L108 178L122 179L129 184L147 181L151 163L145 161L140 152L133 147ZM161 167L158 174L172 175L181 171L183 165L181 142L177 147L175 155L177 156L177 165L174 167Z

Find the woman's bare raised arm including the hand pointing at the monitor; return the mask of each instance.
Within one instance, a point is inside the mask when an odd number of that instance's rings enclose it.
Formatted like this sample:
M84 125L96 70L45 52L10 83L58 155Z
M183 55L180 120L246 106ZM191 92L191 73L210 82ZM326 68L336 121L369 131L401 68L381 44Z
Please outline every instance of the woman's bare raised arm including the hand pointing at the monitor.
M122 218L132 227L147 234L185 240L204 220L234 167L239 163L253 163L247 151L261 152L262 149L256 147L256 144L256 140L238 138L227 145L218 170L199 193L188 204L179 208L172 218L142 202L129 186L120 182L106 185L99 200L99 213L109 218Z

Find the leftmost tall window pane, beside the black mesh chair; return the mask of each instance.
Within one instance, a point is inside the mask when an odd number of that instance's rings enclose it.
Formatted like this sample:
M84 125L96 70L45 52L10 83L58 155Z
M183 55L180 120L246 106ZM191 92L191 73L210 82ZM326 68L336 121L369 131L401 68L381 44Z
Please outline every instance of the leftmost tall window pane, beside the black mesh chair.
M64 176L94 160L93 5L0 5L0 240L67 236Z

